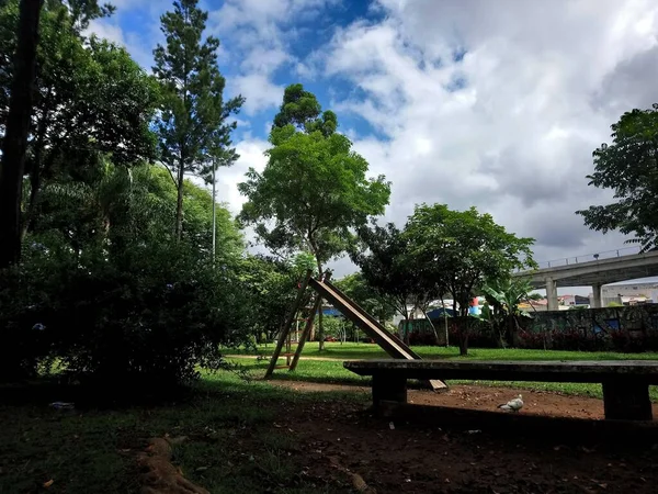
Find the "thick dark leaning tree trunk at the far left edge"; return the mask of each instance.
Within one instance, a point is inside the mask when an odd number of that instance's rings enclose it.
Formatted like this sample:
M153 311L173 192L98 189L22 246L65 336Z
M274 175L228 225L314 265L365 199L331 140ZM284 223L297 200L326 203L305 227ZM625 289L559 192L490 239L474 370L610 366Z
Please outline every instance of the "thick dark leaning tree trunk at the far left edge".
M0 166L0 269L21 259L21 200L36 79L42 1L21 0L20 4L15 71Z

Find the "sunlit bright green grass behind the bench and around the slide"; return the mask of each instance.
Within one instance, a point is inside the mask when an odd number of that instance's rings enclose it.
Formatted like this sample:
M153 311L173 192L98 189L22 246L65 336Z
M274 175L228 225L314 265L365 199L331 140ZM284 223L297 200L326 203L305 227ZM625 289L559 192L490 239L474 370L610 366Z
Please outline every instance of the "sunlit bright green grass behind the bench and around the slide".
M460 357L456 347L413 347L413 350L423 359L454 358L464 360L655 360L658 353L616 353L616 352L586 352L586 351L553 351L553 350L520 350L520 349L489 349L475 348L468 350L467 357ZM258 352L270 355L273 346L260 347ZM232 352L231 352L232 353ZM242 353L247 353L242 350ZM250 352L254 355L254 352ZM328 360L304 360L304 357L321 357ZM345 359L377 359L388 358L386 352L377 345L372 344L339 344L327 343L325 351L318 351L317 341L305 346L299 364L294 372L276 370L275 379L291 381L325 382L333 384L370 385L370 379L356 375L343 368ZM268 367L266 362L257 362L256 359L231 359L241 364L251 375L262 377ZM524 381L450 381L449 384L478 384L491 386L518 388L524 390L553 391L565 394L585 395L602 398L600 384L585 383L553 383L553 382L524 382ZM650 388L650 396L658 402L658 386Z

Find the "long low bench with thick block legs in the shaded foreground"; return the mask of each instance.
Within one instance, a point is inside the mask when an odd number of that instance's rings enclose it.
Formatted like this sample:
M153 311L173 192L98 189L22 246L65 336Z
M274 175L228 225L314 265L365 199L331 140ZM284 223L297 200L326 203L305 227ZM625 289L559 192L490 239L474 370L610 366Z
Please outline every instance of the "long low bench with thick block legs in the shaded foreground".
M658 384L658 361L354 360L343 367L372 375L373 406L407 403L408 379L579 382L603 385L606 419L651 420L649 385Z

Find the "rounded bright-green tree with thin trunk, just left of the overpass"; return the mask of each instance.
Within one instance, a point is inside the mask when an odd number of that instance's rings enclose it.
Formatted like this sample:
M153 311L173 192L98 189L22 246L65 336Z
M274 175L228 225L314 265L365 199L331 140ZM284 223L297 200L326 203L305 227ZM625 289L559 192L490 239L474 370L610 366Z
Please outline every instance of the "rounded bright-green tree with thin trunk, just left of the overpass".
M501 279L517 269L534 267L532 238L519 238L475 207L451 211L445 204L417 205L405 236L428 270L441 272L452 294L453 310L466 319L470 300L485 280ZM467 353L468 325L462 324L460 351Z

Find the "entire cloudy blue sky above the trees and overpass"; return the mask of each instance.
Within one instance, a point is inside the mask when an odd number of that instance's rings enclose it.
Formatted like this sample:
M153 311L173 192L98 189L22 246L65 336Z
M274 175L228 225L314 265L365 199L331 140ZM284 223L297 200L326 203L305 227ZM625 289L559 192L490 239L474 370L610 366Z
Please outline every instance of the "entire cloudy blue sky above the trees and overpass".
M90 27L150 70L170 0L113 0ZM615 251L576 210L611 201L588 187L592 151L626 111L658 101L655 0L203 0L219 37L226 96L241 94L240 158L217 177L234 213L237 183L262 170L283 90L302 82L339 131L393 182L385 221L419 203L472 205L535 259ZM623 254L632 254L632 250ZM604 255L601 255L604 257ZM355 270L333 262L334 278ZM565 290L560 290L560 293ZM566 292L578 292L566 289ZM580 292L587 292L582 289Z

